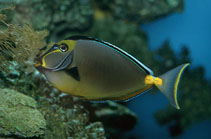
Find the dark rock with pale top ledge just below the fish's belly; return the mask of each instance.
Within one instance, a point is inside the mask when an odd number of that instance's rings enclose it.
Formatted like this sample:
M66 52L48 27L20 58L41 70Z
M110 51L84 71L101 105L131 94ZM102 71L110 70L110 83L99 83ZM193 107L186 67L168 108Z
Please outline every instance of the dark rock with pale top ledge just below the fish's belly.
M134 112L126 106L113 101L103 104L92 104L93 108L94 115L91 118L103 123L108 138L119 137L122 132L133 129L138 121Z

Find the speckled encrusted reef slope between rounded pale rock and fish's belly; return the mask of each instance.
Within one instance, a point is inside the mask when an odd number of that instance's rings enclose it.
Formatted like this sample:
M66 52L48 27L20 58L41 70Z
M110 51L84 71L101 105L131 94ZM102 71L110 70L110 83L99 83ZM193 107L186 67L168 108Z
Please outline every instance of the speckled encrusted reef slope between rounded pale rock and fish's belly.
M40 73L24 71L19 68L2 74L1 87L19 90L36 99L47 127L40 138L105 138L102 123L90 122L89 112L80 101L74 101L71 96L60 97L61 92L49 85Z

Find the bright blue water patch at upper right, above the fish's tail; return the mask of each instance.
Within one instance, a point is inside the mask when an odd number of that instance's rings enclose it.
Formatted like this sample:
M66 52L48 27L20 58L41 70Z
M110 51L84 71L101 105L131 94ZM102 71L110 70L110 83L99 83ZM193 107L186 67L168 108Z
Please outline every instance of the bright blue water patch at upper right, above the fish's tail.
M169 40L175 52L188 46L191 66L202 65L211 79L211 0L185 0L185 11L141 26L152 50Z

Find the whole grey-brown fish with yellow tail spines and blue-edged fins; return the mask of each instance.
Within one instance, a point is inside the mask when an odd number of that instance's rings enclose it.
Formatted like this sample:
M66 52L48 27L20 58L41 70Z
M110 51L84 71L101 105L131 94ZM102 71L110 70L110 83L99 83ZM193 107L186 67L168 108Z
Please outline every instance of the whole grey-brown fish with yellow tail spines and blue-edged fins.
M179 80L189 65L180 65L156 77L117 46L85 36L55 43L35 63L54 87L73 96L90 101L126 101L156 86L177 109Z

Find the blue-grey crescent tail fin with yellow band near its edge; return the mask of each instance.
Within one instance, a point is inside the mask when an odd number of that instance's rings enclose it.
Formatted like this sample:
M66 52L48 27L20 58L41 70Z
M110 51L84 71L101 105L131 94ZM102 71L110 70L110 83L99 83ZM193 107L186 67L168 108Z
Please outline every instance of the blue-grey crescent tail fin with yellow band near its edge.
M177 101L177 87L184 69L189 65L180 65L167 73L161 75L159 78L162 79L162 85L156 85L157 88L168 98L171 105L175 108L180 109Z

